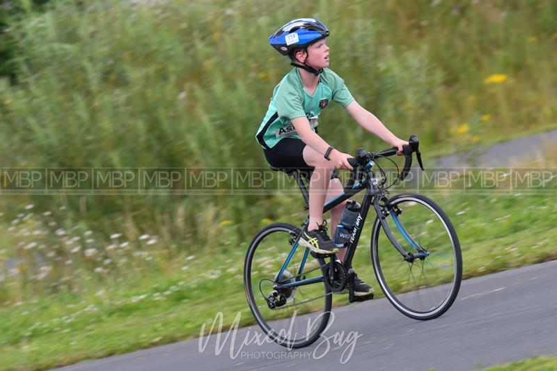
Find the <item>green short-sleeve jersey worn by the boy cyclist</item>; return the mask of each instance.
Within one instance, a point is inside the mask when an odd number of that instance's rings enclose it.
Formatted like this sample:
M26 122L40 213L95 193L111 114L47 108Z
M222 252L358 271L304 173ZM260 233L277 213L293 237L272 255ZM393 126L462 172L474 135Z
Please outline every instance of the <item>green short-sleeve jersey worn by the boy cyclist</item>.
M273 90L269 109L256 134L257 141L263 148L273 148L281 139L299 138L290 120L304 116L316 132L317 118L331 100L343 107L354 101L338 74L324 68L315 93L309 95L301 84L298 68L292 69Z

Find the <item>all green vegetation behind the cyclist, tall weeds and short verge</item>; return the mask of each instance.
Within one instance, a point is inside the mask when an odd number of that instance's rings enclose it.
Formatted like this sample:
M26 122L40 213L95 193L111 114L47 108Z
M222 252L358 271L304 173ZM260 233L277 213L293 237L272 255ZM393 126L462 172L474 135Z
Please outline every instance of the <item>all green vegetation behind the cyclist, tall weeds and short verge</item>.
M425 161L556 127L554 1L157 3L61 0L6 19L17 79L0 79L3 168L265 168L254 134L290 69L267 35L300 16L329 26L331 68L398 136L418 134ZM331 144L386 147L327 110ZM223 308L251 322L245 249L269 221L304 219L288 189L3 196L0 368L198 336ZM470 277L556 258L553 196L433 198ZM363 246L354 266L372 283Z

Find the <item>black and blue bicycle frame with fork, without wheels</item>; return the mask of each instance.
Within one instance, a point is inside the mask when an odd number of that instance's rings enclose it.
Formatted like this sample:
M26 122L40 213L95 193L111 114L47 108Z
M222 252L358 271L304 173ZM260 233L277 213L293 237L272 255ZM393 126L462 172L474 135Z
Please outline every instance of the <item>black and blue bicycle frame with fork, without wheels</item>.
M379 221L381 222L382 227L383 227L387 237L389 238L389 240L391 241L393 246L398 250L398 252L400 253L400 255L402 256L402 258L404 260L406 260L408 262L413 262L416 258L422 258L423 259L427 255L429 255L429 253L425 250L425 248L419 246L416 243L416 241L414 241L414 239L412 239L409 236L409 234L405 230L404 226L402 226L402 223L400 223L400 221L398 220L398 217L396 216L396 212L394 212L394 210L393 210L393 212L389 212L389 210L388 210L389 205L386 202L384 203L384 205L379 204L379 201L381 201L381 200L386 201L386 197L385 197L386 191L384 190L382 185L379 185L379 183L375 179L375 176L374 176L373 171L372 171L372 166L373 165L374 165L373 161L370 161L367 164L367 166L366 166L367 168L365 169L366 177L364 177L364 179L361 182L357 182L356 184L354 184L352 189L349 189L348 191L346 191L346 189L345 189L345 191L343 191L342 194L338 194L334 198L331 198L331 200L328 200L323 205L323 213L328 212L329 210L331 210L332 208L340 205L345 200L348 200L349 198L351 198L355 194L359 194L359 192L363 191L364 189L366 190L366 194L364 194L364 196L363 196L361 209L359 211L358 216L356 217L356 224L355 224L354 230L352 232L352 237L350 237L350 243L346 247L346 249L347 249L346 255L345 255L345 258L342 262L342 265L343 265L343 267L346 271L348 271L348 269L352 266L352 258L354 258L354 253L356 253L356 246L358 245L358 241L360 239L361 231L363 230L363 224L366 221L366 217L368 216L368 212L370 210L371 205L373 205L375 213L377 214L377 216L379 216ZM304 186L303 182L298 182L298 184L299 184L299 187L301 189L302 194L304 195L304 191L306 191L306 189L305 189L305 186ZM302 189L302 187L304 187L304 189ZM389 228L389 225L386 223L386 217L389 216L389 214L393 217L393 220L395 221L395 225L397 226L400 234L406 239L407 242L409 242L409 244L412 248L414 248L416 251L418 251L417 254L409 253L409 252L405 251L405 248L400 246L398 241L395 239L395 237L393 236L393 233L391 232L391 229ZM297 248L299 246L299 244L298 244L299 238L300 237L298 237L295 244L292 245L292 249L290 251L290 254L288 255L288 258L286 258L285 262L283 263L283 266L281 267L281 271L276 276L277 280L278 280L278 278L280 278L283 275L283 272L285 271L286 267L290 263L290 260L292 259L292 256L294 255L295 251L297 250ZM303 274L304 265L306 264L306 259L308 257L308 253L309 253L309 248L306 248L306 251L304 253L304 258L302 258L301 265L300 265L299 271L297 273L298 277L301 277L301 275ZM320 262L321 266L326 264L324 262L324 258L317 258L317 260ZM322 281L323 281L323 276L317 276L317 277L314 277L314 278L304 278L304 279L301 279L299 281L295 281L295 282L292 282L292 283L284 283L284 284L276 283L274 288L275 289L292 288L292 287L297 287L297 286L310 285L312 283L318 283L318 282L322 282Z

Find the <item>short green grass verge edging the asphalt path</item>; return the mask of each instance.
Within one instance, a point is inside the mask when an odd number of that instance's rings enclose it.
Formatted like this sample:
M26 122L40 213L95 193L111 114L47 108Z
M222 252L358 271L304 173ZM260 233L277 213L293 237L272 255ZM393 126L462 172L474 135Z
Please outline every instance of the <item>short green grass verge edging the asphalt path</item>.
M557 203L552 196L432 198L446 210L457 229L465 278L557 258L553 244L557 238ZM285 213L281 218L292 223L302 219L301 212ZM260 221L258 226L267 222ZM370 225L368 221L363 230L354 267L381 297L370 265ZM223 230L226 228L223 226ZM228 235L233 235L233 229L223 232L222 237ZM73 237L74 233L69 233L61 238ZM210 324L219 311L224 314L223 329L228 329L237 312L242 313L242 326L253 324L242 280L248 242L223 245L221 254L200 250L173 259L166 258L166 247L157 243L150 251L132 254L136 256L130 265L128 246L150 239L115 239L118 244L109 249L109 266L127 267L115 268L121 274L118 278L95 271L83 282L72 278L71 272L79 274L89 265L105 267L107 258L84 258L81 251L70 252L65 258L69 264L61 263L68 277L64 284L79 290L18 301L0 310L1 369L44 369L194 338L200 335L201 324ZM47 280L45 277L38 282ZM7 285L8 290L15 290L13 285ZM334 297L335 306L345 304L346 296Z

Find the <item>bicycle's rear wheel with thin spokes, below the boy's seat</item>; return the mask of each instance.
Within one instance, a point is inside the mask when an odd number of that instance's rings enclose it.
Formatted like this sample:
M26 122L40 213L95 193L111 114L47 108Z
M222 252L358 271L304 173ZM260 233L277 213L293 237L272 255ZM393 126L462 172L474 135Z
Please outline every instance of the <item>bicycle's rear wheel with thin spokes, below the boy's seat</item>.
M293 290L279 290L279 293L285 294L286 303L274 310L267 306L265 297L268 297L274 290L272 281L278 276L283 262L292 250L289 239L290 233L295 231L298 231L297 228L277 226L258 235L250 245L244 271L246 297L256 321L269 337L279 344L287 346L300 345L319 336L322 324L329 320L331 309L330 295L292 306L312 297L323 296L325 287L322 282L299 286ZM303 246L297 246L290 263L283 272L281 281L295 279L305 251L306 248ZM308 273L306 278L322 275L317 260L311 255L306 258L304 272L308 269L315 270Z

